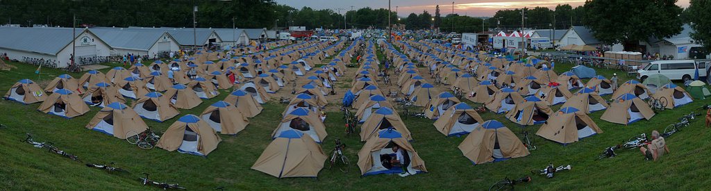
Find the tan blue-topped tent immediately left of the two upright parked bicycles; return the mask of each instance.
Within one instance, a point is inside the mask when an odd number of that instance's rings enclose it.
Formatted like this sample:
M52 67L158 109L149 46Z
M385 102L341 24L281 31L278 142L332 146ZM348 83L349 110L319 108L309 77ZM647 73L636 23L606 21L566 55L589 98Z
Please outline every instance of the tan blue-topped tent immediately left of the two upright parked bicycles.
M113 102L96 113L86 128L126 139L129 131L141 133L148 129L148 125L133 109L122 103Z

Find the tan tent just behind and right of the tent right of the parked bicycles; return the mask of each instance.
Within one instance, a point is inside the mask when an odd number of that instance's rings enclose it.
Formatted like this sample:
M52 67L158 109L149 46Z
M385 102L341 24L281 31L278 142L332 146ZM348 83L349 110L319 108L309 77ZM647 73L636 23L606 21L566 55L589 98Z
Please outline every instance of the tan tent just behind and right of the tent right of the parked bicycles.
M240 110L223 101L210 105L203 111L201 118L215 131L227 135L237 134L250 124L250 120Z

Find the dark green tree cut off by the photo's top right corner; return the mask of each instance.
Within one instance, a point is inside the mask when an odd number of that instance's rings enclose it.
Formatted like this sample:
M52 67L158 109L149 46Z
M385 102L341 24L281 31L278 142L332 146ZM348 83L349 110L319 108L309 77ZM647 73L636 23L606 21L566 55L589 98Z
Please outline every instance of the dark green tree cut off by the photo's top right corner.
M711 50L711 1L691 0L685 15L691 21L691 38Z

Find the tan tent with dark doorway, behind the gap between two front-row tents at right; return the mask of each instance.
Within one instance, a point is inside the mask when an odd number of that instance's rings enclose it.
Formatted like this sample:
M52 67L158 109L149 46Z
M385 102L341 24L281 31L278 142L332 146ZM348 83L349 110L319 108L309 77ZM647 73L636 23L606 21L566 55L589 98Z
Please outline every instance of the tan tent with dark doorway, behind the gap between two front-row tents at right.
M516 124L528 126L545 123L551 114L553 111L548 107L548 102L529 96L525 97L523 102L516 103L516 107L506 113L506 118Z

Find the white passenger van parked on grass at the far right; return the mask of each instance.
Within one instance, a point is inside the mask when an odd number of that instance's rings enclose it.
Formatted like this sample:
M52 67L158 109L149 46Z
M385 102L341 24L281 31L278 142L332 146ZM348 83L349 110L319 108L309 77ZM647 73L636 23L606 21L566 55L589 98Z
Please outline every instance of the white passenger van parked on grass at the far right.
M699 77L706 76L708 60L657 60L638 70L637 77L644 81L649 75L661 74L669 80L693 80L696 68L699 69Z

